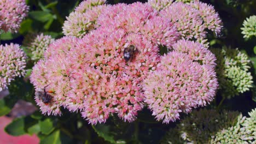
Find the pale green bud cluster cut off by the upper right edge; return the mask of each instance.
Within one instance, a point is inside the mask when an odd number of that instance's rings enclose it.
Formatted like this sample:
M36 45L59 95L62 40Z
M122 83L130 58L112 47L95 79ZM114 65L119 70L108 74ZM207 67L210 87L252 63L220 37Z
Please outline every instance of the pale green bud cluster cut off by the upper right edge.
M243 21L242 34L243 38L256 37L256 15L252 15L249 18L247 17Z

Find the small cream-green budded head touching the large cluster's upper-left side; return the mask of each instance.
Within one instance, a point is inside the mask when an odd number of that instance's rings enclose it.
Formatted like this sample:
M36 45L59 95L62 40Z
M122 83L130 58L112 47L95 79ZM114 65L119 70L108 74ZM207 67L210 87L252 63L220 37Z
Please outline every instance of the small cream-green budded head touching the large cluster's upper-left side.
M25 41L25 45L28 50L31 52L31 59L33 61L38 61L43 58L44 51L48 46L54 42L54 39L50 35L44 35L43 33L36 35L35 37L30 38L31 35L27 35L28 41Z

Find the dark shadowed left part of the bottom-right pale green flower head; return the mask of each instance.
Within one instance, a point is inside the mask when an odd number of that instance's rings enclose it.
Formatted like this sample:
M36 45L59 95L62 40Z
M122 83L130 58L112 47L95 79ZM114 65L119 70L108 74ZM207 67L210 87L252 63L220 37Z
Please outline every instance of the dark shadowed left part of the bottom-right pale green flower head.
M184 141L209 143L211 136L219 130L234 125L238 115L238 112L230 111L195 110L178 124L179 134Z

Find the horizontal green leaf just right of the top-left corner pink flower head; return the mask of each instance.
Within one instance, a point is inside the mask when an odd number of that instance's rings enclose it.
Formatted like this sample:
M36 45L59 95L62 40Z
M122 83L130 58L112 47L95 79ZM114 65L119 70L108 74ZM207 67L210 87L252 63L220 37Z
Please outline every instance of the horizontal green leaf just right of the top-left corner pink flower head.
M34 20L40 21L40 22L46 22L50 19L54 19L54 16L50 14L47 11L31 11L28 13L30 17L32 17Z

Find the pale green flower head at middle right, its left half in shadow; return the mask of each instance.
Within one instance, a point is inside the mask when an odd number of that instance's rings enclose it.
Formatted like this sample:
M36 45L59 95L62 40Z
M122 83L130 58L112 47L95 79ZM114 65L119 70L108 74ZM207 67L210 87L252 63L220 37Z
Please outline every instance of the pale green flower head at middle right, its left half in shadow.
M249 72L249 60L238 49L213 49L217 57L217 75L219 87L226 98L249 91L252 87L252 75Z

